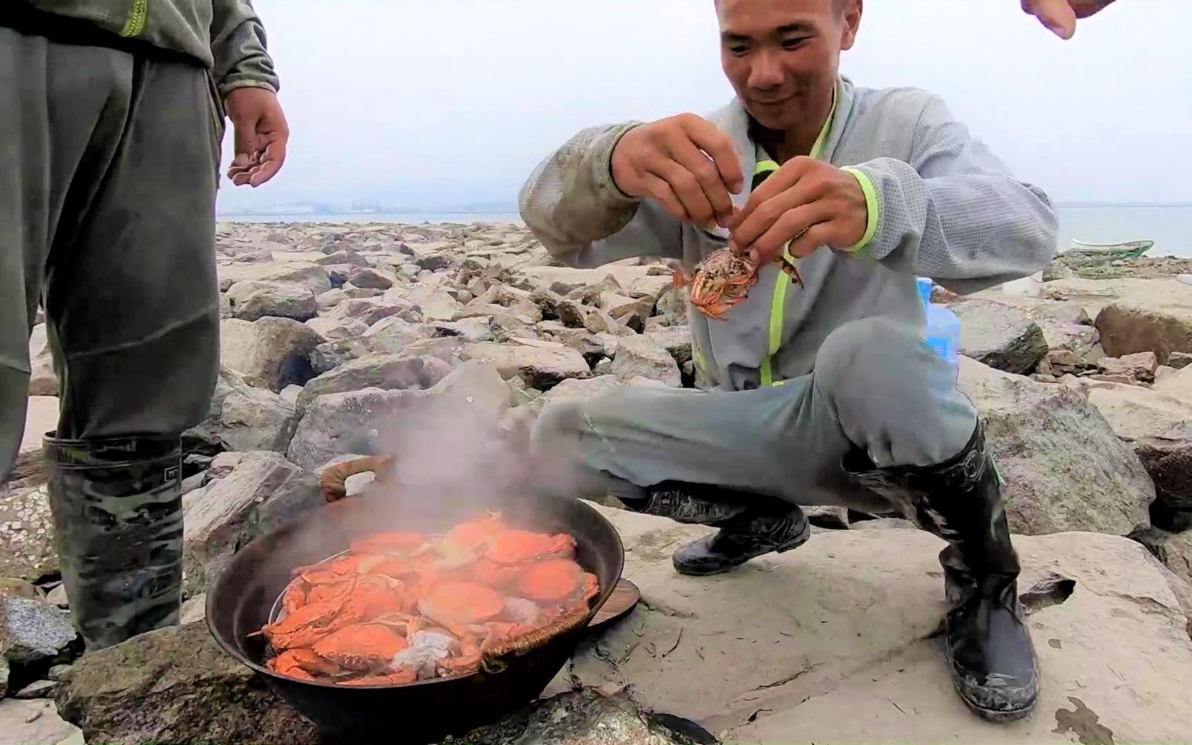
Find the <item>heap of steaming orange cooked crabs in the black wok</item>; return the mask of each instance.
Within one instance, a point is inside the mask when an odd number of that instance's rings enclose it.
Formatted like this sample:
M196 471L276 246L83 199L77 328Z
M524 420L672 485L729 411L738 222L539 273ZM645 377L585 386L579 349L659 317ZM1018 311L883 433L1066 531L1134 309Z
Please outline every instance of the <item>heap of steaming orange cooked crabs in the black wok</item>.
M303 681L401 685L489 670L528 634L588 611L600 586L576 550L571 535L497 513L440 536L365 535L294 570L284 615L250 635L269 640L271 671Z

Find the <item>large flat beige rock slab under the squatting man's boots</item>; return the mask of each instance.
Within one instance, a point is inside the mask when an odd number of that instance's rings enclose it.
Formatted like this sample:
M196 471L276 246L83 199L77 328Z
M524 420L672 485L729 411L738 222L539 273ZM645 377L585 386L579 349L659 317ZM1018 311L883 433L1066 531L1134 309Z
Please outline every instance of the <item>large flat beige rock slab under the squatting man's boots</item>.
M991 725L948 678L937 637L944 544L933 535L830 530L730 575L683 577L670 553L710 528L597 509L617 528L625 576L644 602L589 637L555 684L632 683L646 710L751 745L1075 741L1064 722L1086 734L1099 725L1117 743L1181 741L1192 732L1180 693L1192 669L1182 583L1125 538L1014 538L1020 592L1051 573L1074 589L1026 619L1042 676L1037 713ZM693 673L700 670L715 675ZM1073 719L1073 709L1085 713ZM1086 740L1109 743L1094 738Z

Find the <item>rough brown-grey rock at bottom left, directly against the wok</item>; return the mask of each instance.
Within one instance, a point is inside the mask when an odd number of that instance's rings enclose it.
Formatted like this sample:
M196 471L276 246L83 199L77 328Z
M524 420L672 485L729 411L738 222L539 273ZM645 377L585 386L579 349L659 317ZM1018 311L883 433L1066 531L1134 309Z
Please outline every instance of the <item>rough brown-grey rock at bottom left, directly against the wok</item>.
M56 702L88 743L319 741L315 726L219 648L204 622L85 656L62 676Z

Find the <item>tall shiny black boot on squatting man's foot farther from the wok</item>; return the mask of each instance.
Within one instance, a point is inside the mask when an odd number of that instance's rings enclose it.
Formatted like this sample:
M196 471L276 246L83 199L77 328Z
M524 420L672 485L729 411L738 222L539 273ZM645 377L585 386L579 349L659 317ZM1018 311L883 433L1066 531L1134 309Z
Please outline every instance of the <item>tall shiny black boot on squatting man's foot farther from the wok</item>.
M876 468L853 451L844 470L901 504L948 541L939 553L948 594L946 654L964 703L992 721L1022 719L1038 699L1038 669L1018 600L1001 480L979 423L964 449L938 466Z

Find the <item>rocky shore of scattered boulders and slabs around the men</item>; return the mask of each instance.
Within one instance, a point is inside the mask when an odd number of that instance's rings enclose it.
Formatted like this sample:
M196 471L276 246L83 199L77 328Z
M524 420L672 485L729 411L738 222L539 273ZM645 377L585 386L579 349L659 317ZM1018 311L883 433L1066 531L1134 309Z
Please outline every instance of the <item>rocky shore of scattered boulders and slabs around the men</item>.
M218 255L222 370L185 439L184 625L94 654L57 578L38 435L58 383L35 329L27 436L0 486L0 743L318 741L207 633L204 592L238 546L319 504L321 470L379 447L411 401L467 391L516 427L560 397L699 383L669 269L566 268L519 225L225 224ZM702 528L601 505L642 602L470 741L1186 740L1190 263L1057 261L1014 292L937 293L1007 480L1043 670L1031 719L987 726L955 696L942 544L905 521L813 508L805 547L695 579L669 557Z

